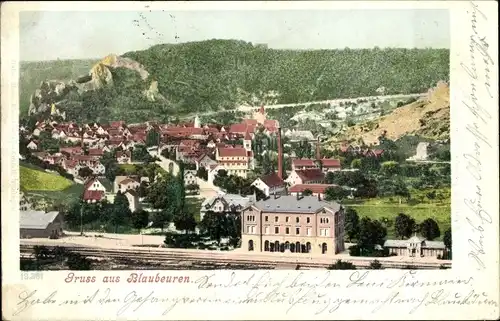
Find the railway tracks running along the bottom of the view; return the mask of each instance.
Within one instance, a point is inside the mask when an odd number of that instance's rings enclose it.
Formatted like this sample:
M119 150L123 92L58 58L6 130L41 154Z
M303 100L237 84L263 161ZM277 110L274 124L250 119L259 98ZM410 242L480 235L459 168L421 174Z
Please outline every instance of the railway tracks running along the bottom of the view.
M34 247L37 244L21 244L20 252L23 256L32 256L34 253ZM85 257L92 257L98 259L128 259L136 262L149 262L149 263L159 263L161 265L200 265L208 264L214 266L223 265L239 265L248 266L249 268L261 268L261 269L276 269L282 265L300 265L304 269L321 269L327 268L329 265L334 263L337 258L312 258L312 257L300 257L300 256L269 256L269 255L259 255L259 254L246 254L237 252L221 252L221 251L203 251L203 250L168 250L168 249L109 249L109 248L99 248L99 247L88 247L88 246L72 246L72 245L45 245L48 249L54 249L56 247L64 247L67 251L78 253ZM343 261L348 261L356 265L358 268L368 267L373 259L361 259L361 258L349 258ZM380 263L384 268L387 269L400 269L408 265L416 269L436 269L440 265L446 267L451 267L449 261L443 261L443 263L436 262L395 262L380 260Z

